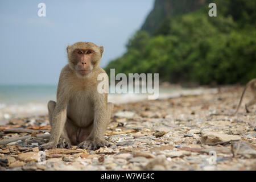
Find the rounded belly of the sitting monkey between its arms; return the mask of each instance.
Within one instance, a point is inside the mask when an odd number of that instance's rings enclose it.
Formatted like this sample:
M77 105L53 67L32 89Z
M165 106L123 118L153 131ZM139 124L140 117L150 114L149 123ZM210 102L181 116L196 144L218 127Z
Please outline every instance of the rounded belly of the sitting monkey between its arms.
M76 96L69 101L67 117L79 127L86 127L93 121L94 109L89 97Z

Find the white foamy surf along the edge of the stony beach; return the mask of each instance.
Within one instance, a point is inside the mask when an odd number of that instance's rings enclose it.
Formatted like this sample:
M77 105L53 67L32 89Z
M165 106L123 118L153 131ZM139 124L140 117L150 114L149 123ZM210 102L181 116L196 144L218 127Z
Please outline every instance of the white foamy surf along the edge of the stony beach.
M52 91L53 92L53 91ZM54 91L55 92L55 91ZM176 98L181 96L197 96L203 93L217 93L216 88L160 88L159 98ZM41 94L42 95L42 94ZM7 100L7 99L6 99ZM36 101L34 98L33 101L28 100L20 101L20 103L11 103L11 104L1 104L0 105L0 125L4 125L9 121L9 119L17 117L35 117L39 115L47 115L47 102L54 99L54 94L51 93L50 96L44 96L44 98L39 98L39 101ZM129 104L133 102L140 102L148 100L148 94L109 94L108 102L113 104Z

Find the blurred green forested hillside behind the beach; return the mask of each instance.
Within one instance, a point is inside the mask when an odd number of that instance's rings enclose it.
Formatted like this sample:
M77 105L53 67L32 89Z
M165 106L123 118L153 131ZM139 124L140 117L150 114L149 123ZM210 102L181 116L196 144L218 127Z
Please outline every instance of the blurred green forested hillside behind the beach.
M208 16L209 3L217 17ZM160 81L245 84L256 77L256 1L156 0L127 52L105 68Z

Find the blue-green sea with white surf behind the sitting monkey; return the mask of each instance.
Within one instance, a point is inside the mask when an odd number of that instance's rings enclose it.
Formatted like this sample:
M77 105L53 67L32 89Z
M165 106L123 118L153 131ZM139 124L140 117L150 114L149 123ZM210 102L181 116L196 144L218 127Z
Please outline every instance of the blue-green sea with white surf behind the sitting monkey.
M57 85L0 85L0 125L15 117L47 115L47 102L56 101L56 91ZM191 93L191 90L180 88L159 88L159 98L179 97L185 91ZM109 94L108 102L125 104L147 100L147 96L133 93Z

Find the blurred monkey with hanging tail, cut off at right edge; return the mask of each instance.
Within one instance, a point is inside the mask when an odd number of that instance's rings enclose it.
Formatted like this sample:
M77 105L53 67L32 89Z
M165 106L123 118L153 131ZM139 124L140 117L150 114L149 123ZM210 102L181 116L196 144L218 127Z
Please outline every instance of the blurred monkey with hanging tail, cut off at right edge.
M246 84L245 89L243 89L243 93L242 93L240 102L239 102L239 104L238 104L238 106L237 106L236 113L234 113L233 115L236 115L236 114L237 114L237 112L238 112L238 110L239 110L239 107L240 107L240 105L241 105L241 103L242 103L242 100L243 100L243 94L245 94L245 90L246 90L249 86L251 86L251 92L253 92L254 97L253 97L253 99L252 99L250 102L248 102L248 103L245 105L246 112L247 112L247 113L250 113L248 107L250 107L251 105L256 104L256 78L254 78L253 80L249 81L249 82Z

